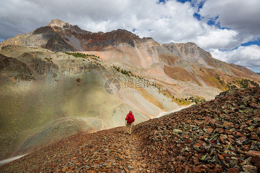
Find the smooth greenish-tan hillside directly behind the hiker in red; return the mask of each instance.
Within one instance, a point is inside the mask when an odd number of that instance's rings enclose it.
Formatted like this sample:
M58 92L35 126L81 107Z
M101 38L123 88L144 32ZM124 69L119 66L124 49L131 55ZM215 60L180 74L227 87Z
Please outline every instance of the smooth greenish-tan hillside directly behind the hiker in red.
M121 126L129 110L140 123L185 105L148 80L122 74L93 54L76 58L42 48L2 47L1 159L76 133ZM105 90L111 78L121 82L116 95Z

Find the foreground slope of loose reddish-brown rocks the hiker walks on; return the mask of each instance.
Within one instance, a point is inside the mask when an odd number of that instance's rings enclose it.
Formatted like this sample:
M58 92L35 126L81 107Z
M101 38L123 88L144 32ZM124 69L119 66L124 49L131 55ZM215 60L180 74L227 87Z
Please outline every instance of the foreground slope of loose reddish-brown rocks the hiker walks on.
M0 172L227 172L260 170L260 89L124 127L81 133L3 165Z

